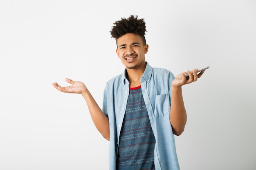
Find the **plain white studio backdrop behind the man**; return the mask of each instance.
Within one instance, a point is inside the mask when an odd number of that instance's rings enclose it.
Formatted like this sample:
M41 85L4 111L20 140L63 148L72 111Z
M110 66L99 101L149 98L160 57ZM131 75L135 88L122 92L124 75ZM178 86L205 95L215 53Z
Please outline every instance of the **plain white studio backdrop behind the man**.
M0 170L108 170L108 141L81 95L102 106L124 71L112 24L146 22L153 67L175 75L210 66L183 87L188 115L175 137L181 170L256 169L255 0L0 0Z

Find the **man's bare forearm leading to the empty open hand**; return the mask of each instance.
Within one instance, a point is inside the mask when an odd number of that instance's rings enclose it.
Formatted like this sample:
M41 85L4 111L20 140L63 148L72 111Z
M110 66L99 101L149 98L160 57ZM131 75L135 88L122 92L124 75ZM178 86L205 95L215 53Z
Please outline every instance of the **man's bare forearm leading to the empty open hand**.
M81 94L88 105L94 125L101 135L109 141L110 131L108 117L102 112L101 108L99 108L99 105L96 103L88 89Z

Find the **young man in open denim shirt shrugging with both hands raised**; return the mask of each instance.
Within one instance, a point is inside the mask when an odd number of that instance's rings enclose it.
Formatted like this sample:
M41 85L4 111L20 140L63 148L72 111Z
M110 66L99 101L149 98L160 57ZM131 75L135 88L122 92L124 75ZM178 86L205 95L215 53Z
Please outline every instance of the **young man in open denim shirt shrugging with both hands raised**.
M117 56L126 69L107 82L102 109L82 82L52 84L61 92L83 95L96 128L110 141L110 170L180 169L174 135L181 135L186 124L182 86L204 71L197 75L194 69L175 78L166 69L152 68L145 60L145 32L144 19L133 15L112 26Z

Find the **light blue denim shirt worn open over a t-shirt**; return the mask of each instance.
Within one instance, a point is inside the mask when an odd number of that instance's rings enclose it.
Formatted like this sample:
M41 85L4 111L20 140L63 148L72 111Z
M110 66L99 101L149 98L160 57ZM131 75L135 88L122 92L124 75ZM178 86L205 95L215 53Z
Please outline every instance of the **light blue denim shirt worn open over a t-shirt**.
M173 73L164 68L152 68L148 63L140 79L150 124L155 135L155 169L180 170L175 139L170 123L171 83ZM109 169L116 170L119 136L129 95L129 82L123 74L106 83L102 111L110 124Z

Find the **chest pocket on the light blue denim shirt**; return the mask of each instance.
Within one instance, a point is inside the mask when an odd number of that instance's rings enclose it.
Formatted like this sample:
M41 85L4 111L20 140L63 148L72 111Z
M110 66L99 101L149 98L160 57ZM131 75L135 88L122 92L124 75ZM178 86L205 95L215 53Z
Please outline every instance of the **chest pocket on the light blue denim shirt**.
M170 104L168 98L168 93L157 95L155 97L155 115L165 116L169 113Z

